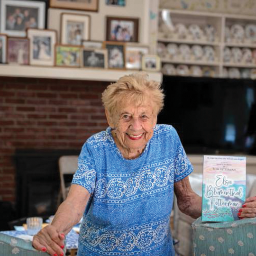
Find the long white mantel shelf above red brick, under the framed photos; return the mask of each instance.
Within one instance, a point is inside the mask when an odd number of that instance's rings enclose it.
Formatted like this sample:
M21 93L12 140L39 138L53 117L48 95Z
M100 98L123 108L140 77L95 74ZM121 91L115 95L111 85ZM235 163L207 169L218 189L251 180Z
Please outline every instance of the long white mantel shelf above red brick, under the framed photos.
M117 81L121 76L135 73L128 70L108 69L83 69L83 68L61 68L42 66L18 66L0 64L0 76L9 77L31 77L31 78L52 78L68 80L89 80L89 81ZM162 73L147 72L149 79L162 82Z

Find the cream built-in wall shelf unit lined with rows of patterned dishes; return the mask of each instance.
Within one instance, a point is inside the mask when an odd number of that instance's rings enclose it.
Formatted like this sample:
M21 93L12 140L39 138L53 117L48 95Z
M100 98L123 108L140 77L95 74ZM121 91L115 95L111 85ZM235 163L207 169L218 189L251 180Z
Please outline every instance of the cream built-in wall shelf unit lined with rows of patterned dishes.
M182 25L181 25L182 24ZM239 32L234 32L234 25L238 24L242 27L242 33L244 36L239 38ZM186 33L181 33L181 26L185 26ZM196 25L197 28L201 29L200 36L195 37L195 32L193 34L192 25ZM215 36L210 39L209 34L207 36L207 26L214 27ZM248 33L249 25L254 28L252 33ZM179 27L180 26L180 27ZM194 27L193 27L194 28ZM239 28L239 27L238 27ZM232 33L231 33L231 32ZM230 33L231 34L230 34ZM237 34L236 34L237 33ZM229 36L231 35L231 36ZM242 16L242 15L229 15L229 14L218 14L218 13L206 13L198 11L189 10L174 10L174 9L159 9L159 27L158 27L158 55L161 57L162 61L162 72L164 74L174 74L177 65L187 65L189 68L189 73L185 75L194 75L192 73L192 66L197 65L202 69L211 69L213 72L211 76L213 77L227 77L229 72L231 73L234 69L236 72L241 74L244 69L248 69L248 76L244 78L255 78L256 73L256 17L255 16ZM176 52L174 50L174 45L177 46ZM187 45L190 48L190 58L186 58L183 61L181 45ZM197 61L194 60L194 49L193 46L199 46L202 48L203 55L201 59ZM212 52L214 52L214 60L209 61L206 58L205 47L211 47ZM208 48L209 48L208 47ZM227 62L224 56L226 52L224 49L229 48L231 53L230 61ZM233 56L234 48L238 48L243 52L241 60L234 61ZM251 51L251 61L245 59L244 51L247 48ZM233 50L234 49L234 50ZM209 49L208 49L209 50ZM173 51L173 52L172 52ZM239 50L238 50L239 51ZM175 52L175 54L174 54ZM172 72L168 72L171 69ZM230 70L231 69L231 70ZM195 69L194 69L195 70ZM184 74L183 74L184 75ZM202 71L202 76L208 76ZM232 75L232 74L231 74ZM231 76L229 76L231 77Z

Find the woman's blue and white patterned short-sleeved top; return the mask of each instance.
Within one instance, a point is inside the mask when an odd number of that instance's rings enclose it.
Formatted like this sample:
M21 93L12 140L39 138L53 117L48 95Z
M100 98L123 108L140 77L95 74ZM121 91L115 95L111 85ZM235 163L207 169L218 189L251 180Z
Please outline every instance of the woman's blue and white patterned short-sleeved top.
M174 182L192 170L170 125L156 125L143 153L131 160L120 153L110 127L90 137L72 181L91 193L77 255L174 256Z

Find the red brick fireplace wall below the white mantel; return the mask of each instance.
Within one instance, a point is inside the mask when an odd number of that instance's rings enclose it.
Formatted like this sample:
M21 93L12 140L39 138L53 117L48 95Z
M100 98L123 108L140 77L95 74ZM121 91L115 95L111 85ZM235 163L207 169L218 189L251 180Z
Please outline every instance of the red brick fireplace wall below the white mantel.
M0 201L15 201L15 149L81 149L107 127L108 84L0 77Z

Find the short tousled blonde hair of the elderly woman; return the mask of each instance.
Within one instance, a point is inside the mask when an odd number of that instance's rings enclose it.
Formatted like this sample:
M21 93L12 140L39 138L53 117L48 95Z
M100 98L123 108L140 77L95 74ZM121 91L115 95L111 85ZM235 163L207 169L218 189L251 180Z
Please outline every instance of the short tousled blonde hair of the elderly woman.
M110 84L102 93L102 102L110 115L119 107L120 102L128 101L135 106L143 104L146 99L155 103L155 114L164 107L165 94L159 82L149 81L144 72L125 75Z

